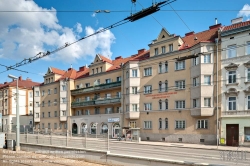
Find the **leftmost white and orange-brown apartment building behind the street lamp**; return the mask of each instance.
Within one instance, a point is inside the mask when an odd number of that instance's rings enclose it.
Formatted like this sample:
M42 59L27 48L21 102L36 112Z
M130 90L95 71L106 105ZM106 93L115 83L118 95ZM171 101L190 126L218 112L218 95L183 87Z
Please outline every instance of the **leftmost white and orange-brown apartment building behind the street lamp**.
M27 78L18 78L20 131L33 127L33 90L39 83ZM2 130L10 132L16 129L16 86L17 81L0 85L0 111L2 113Z

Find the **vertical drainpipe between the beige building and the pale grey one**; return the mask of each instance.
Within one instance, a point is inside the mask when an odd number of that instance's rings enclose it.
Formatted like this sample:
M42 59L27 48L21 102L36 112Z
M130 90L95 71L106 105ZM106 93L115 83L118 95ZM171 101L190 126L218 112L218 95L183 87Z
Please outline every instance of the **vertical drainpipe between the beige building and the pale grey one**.
M219 103L219 100L218 100L218 97L219 97L219 94L218 94L218 85L219 85L219 80L218 80L218 72L219 72L219 69L218 69L218 63L219 63L219 60L218 60L218 38L215 39L215 42L216 42L216 140L217 140L217 149L218 149L218 145L219 145L219 124L218 124L218 117L219 117L219 110L218 110L218 103Z

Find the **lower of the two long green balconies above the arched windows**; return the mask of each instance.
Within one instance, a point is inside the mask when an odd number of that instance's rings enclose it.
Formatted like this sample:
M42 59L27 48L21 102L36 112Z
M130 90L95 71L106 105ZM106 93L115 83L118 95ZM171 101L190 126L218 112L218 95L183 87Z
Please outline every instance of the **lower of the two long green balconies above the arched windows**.
M96 106L96 105L109 105L109 104L116 104L116 103L121 103L120 97L99 98L99 99L91 100L91 101L76 101L76 102L71 103L71 107L77 108L77 107L87 107L87 106Z

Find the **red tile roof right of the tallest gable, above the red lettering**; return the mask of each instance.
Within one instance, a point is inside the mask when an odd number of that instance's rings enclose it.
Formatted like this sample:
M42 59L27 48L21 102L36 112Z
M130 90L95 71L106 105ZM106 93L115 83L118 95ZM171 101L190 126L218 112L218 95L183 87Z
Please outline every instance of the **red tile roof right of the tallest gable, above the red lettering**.
M184 50L201 42L214 42L215 38L218 37L218 28L221 27L220 24L217 26L211 26L209 30L189 34L182 38L183 44L180 46L179 50ZM194 40L197 37L197 40Z

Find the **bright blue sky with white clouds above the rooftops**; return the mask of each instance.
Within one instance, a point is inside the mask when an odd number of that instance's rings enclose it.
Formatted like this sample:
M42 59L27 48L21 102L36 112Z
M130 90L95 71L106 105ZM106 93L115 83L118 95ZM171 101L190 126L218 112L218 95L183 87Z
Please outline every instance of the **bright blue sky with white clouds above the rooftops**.
M39 52L54 50L66 42L71 43L128 17L131 8L139 11L142 6L146 8L151 4L152 0L137 0L136 6L132 5L131 0L1 0L0 64L14 65ZM215 24L215 18L222 25L231 24L231 19L239 16L246 21L250 18L249 5L247 0L177 0L153 15L98 34L55 55L18 68L29 73L14 70L0 73L0 83L10 81L8 74L42 82L48 67L67 70L72 64L73 68L78 69L90 64L97 53L111 59L133 55L139 49L148 49L148 44L157 38L162 26L171 34L184 36L190 31L208 29ZM94 13L96 10L109 10L110 13ZM5 67L0 66L1 71L5 71Z

